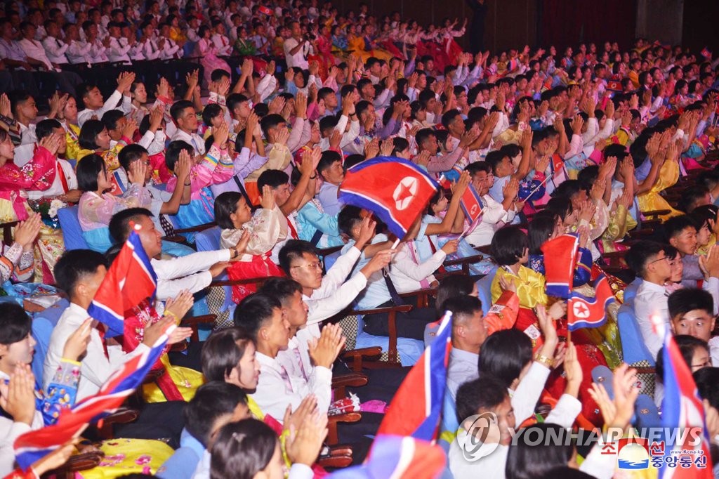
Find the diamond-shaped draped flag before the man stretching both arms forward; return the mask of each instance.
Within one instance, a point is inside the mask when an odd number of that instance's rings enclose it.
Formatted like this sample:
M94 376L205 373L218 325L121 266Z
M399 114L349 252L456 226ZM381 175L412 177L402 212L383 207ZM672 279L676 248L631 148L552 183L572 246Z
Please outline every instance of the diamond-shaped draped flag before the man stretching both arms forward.
M121 336L125 313L143 299L154 297L155 288L157 275L133 231L102 280L88 314L107 325L107 337Z

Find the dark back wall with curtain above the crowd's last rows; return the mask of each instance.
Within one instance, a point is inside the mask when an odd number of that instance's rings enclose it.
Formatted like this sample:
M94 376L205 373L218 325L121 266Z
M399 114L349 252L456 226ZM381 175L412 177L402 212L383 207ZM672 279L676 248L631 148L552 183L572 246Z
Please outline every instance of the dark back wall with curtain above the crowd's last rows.
M361 0L334 0L340 12L357 9ZM440 24L444 17L471 19L469 0L365 0L381 17L399 11L420 24ZM637 36L681 43L693 50L707 46L719 54L719 0L486 0L485 47L555 45L617 41L622 50ZM466 45L466 37L459 39ZM559 52L560 54L562 51Z

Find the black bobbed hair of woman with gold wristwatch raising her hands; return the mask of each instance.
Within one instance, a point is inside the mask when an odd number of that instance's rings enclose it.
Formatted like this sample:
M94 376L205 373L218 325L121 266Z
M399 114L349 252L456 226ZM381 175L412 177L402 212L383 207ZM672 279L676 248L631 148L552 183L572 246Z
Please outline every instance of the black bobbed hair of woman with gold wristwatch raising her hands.
M504 329L490 334L482 345L480 376L492 375L508 388L531 360L531 339L519 329Z

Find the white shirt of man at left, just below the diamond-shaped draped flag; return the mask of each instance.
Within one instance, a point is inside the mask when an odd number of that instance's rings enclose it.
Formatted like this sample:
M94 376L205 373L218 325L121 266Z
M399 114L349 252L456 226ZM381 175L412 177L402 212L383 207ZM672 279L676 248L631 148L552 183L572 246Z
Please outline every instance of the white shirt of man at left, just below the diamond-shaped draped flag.
M63 358L65 342L70 334L73 334L83 321L90 317L88 312L77 304L70 303L65 309L63 316L60 316L57 326L52 329L50 345L47 347L45 365L42 371L42 387L50 386L50 381L55 375L55 370ZM78 401L98 393L100 386L110 378L110 375L127 360L147 350L147 346L140 343L133 352L125 353L119 345L107 347L105 355L104 342L100 336L99 329L93 327L90 332L90 343L85 357L81 361L80 383L78 384Z

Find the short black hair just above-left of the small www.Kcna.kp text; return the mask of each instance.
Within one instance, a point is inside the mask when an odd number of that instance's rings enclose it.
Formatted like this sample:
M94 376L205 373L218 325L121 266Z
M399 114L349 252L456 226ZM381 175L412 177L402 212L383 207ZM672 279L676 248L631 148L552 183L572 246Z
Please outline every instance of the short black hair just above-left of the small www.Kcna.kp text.
M247 403L247 394L239 386L224 381L210 381L200 386L183 410L185 427L207 447L215 421L234 413L237 404Z

